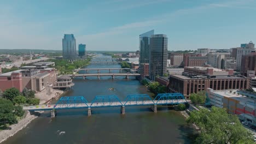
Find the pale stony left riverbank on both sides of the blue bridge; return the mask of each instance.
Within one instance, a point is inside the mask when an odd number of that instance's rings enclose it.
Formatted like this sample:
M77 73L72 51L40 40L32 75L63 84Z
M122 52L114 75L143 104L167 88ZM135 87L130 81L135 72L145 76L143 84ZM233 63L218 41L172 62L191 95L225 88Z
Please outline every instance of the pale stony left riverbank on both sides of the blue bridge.
M35 94L36 98L40 99L40 104L49 104L51 100L58 99L64 91L58 90L58 89L48 89L48 92L46 88ZM9 139L9 137L15 135L18 133L18 131L24 129L27 127L29 123L31 123L34 119L40 116L40 113L43 113L43 111L36 112L36 114L30 114L29 111L26 111L24 115L26 115L24 118L20 119L20 121L16 124L10 125L7 129L0 131L0 143L3 141L6 141Z

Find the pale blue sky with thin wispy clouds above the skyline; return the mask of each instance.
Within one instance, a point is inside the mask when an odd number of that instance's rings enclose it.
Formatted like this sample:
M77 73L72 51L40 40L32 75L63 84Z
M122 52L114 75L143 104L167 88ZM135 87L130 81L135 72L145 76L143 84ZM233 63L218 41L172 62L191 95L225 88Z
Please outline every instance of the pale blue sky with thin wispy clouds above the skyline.
M88 50L136 51L139 34L166 34L168 50L256 43L256 0L1 1L0 49L61 50L73 33Z

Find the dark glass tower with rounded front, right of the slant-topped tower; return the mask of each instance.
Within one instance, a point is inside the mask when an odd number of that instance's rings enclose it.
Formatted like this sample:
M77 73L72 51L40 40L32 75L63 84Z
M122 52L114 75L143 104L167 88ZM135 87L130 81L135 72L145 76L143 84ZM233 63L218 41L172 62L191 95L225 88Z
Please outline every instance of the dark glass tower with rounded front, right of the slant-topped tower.
M154 34L150 38L149 79L166 73L168 38L165 34Z

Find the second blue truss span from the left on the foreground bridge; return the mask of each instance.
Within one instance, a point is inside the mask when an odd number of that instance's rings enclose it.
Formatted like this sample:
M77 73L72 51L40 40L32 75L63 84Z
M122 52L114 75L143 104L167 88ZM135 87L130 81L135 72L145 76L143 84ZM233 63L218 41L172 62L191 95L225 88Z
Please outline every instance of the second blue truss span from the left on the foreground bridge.
M90 107L121 106L121 100L117 95L97 95L92 101Z

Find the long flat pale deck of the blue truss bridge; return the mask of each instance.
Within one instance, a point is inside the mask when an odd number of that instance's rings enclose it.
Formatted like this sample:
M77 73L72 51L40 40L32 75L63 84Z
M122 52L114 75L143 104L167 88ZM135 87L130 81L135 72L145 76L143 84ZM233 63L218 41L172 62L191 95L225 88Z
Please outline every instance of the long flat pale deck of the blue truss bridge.
M142 106L142 105L174 105L187 103L185 99L177 100L145 100L145 101L118 101L105 103L80 103L80 104L58 104L58 105L38 105L38 106L24 106L24 110L29 111L45 111L53 109L83 109L88 107L118 107L118 106Z

